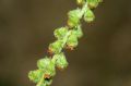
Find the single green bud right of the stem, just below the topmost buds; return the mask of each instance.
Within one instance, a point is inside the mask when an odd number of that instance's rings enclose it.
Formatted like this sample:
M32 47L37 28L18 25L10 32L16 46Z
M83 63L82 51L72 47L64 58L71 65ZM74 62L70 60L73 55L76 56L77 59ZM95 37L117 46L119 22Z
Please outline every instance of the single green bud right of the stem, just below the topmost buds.
M84 13L84 21L91 23L95 20L95 15L92 10L87 9Z

